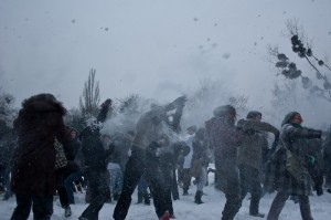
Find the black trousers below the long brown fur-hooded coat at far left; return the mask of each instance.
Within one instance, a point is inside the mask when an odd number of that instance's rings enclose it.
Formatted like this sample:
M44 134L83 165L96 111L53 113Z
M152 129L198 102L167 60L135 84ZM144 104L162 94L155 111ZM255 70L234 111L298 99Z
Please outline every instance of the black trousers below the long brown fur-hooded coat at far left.
M30 216L31 207L33 220L50 220L53 214L53 196L33 197L15 193L17 207L11 216L11 220L26 220Z

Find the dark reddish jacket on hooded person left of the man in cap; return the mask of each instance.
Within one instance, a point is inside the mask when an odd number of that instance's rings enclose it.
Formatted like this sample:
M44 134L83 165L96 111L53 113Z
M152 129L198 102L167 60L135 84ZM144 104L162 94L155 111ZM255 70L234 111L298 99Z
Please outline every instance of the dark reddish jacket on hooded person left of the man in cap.
M236 160L237 147L242 144L242 132L226 117L213 117L205 122L206 135L210 145L214 148L215 159Z

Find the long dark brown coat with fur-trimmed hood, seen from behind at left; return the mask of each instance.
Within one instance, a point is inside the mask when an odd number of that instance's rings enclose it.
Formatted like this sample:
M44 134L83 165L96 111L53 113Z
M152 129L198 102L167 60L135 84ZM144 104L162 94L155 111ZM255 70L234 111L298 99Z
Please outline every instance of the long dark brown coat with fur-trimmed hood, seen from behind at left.
M65 108L50 94L32 96L22 103L13 122L18 134L11 169L13 192L41 197L54 193L55 137L62 144L71 140L64 114Z

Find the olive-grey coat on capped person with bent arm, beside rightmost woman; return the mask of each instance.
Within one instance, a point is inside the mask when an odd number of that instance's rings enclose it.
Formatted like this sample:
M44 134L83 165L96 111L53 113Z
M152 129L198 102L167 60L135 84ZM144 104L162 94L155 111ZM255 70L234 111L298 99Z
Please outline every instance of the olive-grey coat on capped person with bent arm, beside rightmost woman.
M268 142L263 132L279 135L276 127L268 123L257 121L239 121L237 126L243 129L243 143L237 151L237 165L250 166L260 169L263 161L263 149L268 148Z

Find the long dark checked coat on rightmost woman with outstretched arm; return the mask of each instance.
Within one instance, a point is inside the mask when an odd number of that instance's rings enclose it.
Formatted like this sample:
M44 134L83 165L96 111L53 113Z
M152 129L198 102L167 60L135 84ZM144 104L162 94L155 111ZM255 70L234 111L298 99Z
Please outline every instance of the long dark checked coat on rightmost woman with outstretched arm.
M320 138L321 132L301 127L296 124L285 124L280 130L279 146L271 156L267 165L265 188L267 191L276 189L277 191L288 192L290 195L306 195L311 192L311 178L307 169L303 148L309 147L308 139ZM306 169L302 181L298 181L286 169L286 148L299 158L301 165Z

